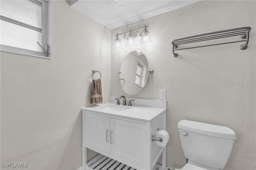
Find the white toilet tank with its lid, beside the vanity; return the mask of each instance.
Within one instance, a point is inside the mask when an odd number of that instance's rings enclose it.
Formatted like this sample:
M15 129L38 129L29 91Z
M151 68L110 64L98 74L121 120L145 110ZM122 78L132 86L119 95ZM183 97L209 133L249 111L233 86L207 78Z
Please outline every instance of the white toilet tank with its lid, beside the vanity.
M236 139L228 128L207 123L182 120L178 123L180 142L188 160L214 169L224 169Z

